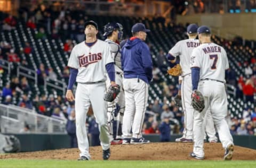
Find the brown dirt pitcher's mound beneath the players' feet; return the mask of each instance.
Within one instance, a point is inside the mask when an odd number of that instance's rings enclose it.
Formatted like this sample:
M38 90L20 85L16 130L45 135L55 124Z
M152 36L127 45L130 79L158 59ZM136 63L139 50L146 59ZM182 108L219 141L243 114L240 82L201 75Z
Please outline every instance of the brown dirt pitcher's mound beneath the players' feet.
M189 153L193 150L192 143L150 143L142 145L113 145L110 148L110 160L191 160ZM206 160L222 160L224 150L220 143L205 143ZM90 148L93 160L102 160L102 149L100 146ZM26 152L17 154L0 155L1 159L66 159L73 160L79 157L79 150L58 149L39 152ZM233 160L256 160L256 150L235 146Z

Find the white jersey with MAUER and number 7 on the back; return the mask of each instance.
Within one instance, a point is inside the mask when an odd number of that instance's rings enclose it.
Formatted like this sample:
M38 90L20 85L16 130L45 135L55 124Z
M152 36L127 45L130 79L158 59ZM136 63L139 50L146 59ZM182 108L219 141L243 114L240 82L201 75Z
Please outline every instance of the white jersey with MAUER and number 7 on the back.
M225 70L229 68L225 49L214 43L196 47L191 55L190 67L200 68L200 79L225 81Z

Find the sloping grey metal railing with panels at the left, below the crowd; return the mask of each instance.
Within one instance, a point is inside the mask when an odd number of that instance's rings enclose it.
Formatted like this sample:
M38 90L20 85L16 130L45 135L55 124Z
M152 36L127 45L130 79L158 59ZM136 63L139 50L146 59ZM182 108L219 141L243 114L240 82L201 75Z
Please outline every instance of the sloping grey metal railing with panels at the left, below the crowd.
M30 133L66 134L65 120L37 114L35 111L27 110L26 108L0 104L0 116L2 132L12 131L12 133L19 133L26 123L29 125ZM13 128L13 125L15 125L15 128Z

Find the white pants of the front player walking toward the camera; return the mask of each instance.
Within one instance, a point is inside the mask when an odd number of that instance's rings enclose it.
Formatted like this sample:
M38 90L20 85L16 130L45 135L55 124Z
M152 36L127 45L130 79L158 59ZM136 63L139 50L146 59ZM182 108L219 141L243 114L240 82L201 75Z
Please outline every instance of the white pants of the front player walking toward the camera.
M106 93L105 82L94 84L77 84L75 95L75 110L76 110L76 136L80 156L85 156L90 159L89 142L86 132L86 114L92 105L92 110L99 124L100 141L103 150L110 147L110 138L107 125L107 102L103 100Z

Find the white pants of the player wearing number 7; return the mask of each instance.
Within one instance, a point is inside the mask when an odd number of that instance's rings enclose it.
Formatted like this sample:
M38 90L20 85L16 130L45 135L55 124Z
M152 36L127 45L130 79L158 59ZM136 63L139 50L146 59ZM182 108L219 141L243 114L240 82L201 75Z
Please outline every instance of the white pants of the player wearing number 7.
M214 89L213 89L214 88ZM198 90L204 95L205 108L199 113L194 113L194 149L198 157L204 157L204 127L203 120L208 108L212 113L213 122L217 127L222 147L226 149L233 144L233 137L225 117L227 115L228 103L224 83L218 81L199 81Z

